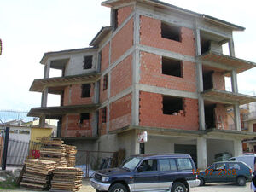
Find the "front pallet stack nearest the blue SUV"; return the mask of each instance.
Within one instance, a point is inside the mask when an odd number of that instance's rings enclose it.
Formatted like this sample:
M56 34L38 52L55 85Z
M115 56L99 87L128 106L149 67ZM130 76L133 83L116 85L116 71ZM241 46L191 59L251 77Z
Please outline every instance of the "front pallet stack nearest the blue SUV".
M82 187L83 172L75 167L56 167L50 192L75 192Z

